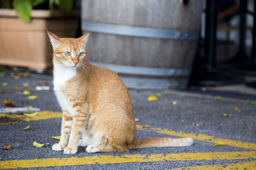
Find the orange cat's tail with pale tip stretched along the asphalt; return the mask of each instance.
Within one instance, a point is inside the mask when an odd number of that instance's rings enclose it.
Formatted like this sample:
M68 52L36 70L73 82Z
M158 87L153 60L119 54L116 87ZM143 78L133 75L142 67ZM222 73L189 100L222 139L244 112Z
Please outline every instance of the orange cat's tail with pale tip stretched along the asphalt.
M143 138L135 139L133 142L132 149L191 145L193 145L192 138Z

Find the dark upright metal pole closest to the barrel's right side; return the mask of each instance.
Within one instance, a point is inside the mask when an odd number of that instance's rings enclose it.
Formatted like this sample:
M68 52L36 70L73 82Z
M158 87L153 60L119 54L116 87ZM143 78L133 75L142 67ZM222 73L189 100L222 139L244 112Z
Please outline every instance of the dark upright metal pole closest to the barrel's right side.
M205 57L207 59L208 71L212 71L216 64L216 25L217 25L216 0L206 1L205 13Z

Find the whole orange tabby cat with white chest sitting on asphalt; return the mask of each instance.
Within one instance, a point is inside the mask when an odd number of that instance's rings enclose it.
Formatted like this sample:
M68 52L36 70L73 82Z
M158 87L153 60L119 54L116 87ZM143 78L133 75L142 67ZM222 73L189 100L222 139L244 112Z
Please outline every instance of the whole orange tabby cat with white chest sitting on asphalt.
M63 110L60 143L65 154L87 146L86 152L127 152L136 148L190 146L191 138L136 139L131 98L113 71L86 60L89 34L59 38L48 31L54 56L54 90Z

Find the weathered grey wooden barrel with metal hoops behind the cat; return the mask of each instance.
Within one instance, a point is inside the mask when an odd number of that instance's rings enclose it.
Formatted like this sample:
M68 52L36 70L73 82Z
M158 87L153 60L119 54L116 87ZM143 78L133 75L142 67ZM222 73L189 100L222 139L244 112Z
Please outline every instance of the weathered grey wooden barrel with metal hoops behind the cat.
M187 3L186 3L187 2ZM88 60L135 89L186 89L202 0L85 0Z

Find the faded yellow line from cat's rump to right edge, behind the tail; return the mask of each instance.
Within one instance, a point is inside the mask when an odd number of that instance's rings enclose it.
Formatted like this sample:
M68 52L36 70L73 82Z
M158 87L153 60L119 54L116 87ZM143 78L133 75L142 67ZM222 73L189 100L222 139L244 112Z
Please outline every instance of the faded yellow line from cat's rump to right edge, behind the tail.
M137 129L151 131L151 132L157 132L159 134L168 134L171 136L179 136L182 138L193 138L194 140L198 141L205 141L209 143L218 143L223 142L225 145L228 146L234 146L237 148L244 148L248 150L256 150L256 144L255 143L248 143L248 142L242 142L242 141L236 141L231 139L221 139L221 138L215 138L214 136L207 136L206 134L195 134L195 133L185 133L185 132L176 132L168 129L160 129L160 128L143 128L143 125L137 125Z

